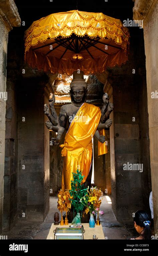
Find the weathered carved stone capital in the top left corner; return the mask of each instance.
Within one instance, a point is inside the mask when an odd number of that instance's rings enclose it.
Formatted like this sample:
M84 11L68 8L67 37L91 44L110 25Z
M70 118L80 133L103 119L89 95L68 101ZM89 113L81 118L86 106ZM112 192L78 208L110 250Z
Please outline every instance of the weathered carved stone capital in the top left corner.
M21 19L14 0L0 1L0 20L8 31L13 29L13 27L21 26Z

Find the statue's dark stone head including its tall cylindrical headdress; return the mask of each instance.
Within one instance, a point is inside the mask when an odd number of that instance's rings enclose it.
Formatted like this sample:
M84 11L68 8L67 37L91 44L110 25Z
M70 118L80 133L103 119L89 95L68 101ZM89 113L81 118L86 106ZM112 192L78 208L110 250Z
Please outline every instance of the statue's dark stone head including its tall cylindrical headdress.
M86 101L87 83L83 77L83 71L74 71L73 80L70 84L71 101L74 103L82 103Z

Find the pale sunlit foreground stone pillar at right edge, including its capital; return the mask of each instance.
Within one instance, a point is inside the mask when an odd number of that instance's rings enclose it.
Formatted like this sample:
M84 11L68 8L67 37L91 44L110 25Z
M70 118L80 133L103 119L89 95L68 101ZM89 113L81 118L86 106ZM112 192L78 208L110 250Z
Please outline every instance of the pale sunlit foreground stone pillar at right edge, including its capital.
M149 114L150 166L154 208L154 228L158 234L158 2L136 0L133 19L143 20Z

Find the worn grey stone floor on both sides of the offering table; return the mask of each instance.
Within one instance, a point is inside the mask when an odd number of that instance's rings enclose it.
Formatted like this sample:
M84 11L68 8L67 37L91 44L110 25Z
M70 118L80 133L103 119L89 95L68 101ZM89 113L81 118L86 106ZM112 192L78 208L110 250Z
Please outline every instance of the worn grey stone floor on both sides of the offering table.
M101 210L104 215L100 217L103 232L106 239L130 239L136 237L137 233L131 223L119 223L112 212L111 199L103 196ZM54 222L54 213L57 209L57 197L50 197L50 210L44 222L18 222L9 232L4 231L2 235L8 239L46 239L49 229Z

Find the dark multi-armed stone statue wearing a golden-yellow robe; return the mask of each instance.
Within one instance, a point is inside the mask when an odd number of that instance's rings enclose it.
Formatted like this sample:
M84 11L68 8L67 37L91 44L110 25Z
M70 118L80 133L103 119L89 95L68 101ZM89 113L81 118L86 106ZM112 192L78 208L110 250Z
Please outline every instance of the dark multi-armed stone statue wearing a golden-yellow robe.
M77 169L82 171L83 183L86 182L91 173L90 170L92 170L92 137L94 136L99 142L98 148L100 147L101 152L103 152L100 154L107 153L104 150L105 134L101 131L109 129L112 124L109 115L113 110L113 104L109 102L107 94L103 95L104 104L101 111L99 107L86 103L87 83L82 71L80 74L77 71L73 72L70 96L72 103L64 104L61 107L59 117L54 108L54 94L49 99L51 114L48 105L44 105L44 113L49 118L49 121L46 121L46 126L49 130L57 133L56 138L51 139L54 146L59 144L65 132L67 121L69 123L64 144L60 145L63 148L62 156L64 157L61 186L63 191L71 189L72 173L76 172ZM91 177L89 177L90 182Z

